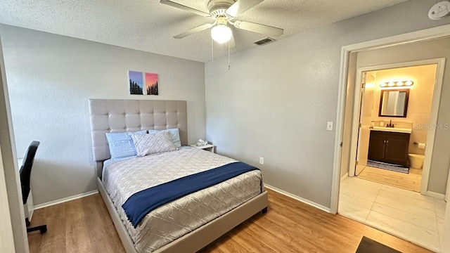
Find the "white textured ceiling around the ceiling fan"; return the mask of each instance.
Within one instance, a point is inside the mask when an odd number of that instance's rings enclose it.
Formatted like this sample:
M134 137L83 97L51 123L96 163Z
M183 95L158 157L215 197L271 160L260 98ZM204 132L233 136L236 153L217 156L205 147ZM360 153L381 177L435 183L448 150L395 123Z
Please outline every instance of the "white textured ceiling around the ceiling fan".
M207 0L174 1L209 12ZM265 0L238 19L283 28L276 38L283 39L404 1ZM0 0L0 6L0 23L7 25L202 62L212 58L210 30L172 38L211 20L158 0ZM236 28L233 34L237 47L231 53L265 38ZM214 58L226 53L225 46L214 46Z

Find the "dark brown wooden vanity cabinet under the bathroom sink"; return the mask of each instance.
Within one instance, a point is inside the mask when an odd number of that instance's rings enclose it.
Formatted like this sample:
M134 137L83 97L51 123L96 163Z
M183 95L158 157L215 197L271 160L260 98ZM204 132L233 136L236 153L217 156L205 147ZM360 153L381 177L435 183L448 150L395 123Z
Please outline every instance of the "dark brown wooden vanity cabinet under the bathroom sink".
M368 160L407 167L409 136L406 133L373 131L368 143Z

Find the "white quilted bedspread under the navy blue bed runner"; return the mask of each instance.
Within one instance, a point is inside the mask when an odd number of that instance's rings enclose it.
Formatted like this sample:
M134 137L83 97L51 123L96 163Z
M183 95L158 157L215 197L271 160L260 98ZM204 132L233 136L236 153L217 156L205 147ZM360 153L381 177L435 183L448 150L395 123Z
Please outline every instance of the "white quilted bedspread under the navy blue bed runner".
M138 252L153 252L261 193L262 175L249 171L153 210L134 228L122 204L136 192L189 174L236 162L198 148L137 157L110 164L103 184Z

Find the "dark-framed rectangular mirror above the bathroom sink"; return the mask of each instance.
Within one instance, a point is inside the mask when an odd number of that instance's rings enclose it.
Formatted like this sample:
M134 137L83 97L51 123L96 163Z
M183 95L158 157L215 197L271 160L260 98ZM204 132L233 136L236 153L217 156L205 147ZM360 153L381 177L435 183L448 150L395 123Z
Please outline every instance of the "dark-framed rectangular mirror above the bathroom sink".
M381 90L379 117L406 117L409 89Z

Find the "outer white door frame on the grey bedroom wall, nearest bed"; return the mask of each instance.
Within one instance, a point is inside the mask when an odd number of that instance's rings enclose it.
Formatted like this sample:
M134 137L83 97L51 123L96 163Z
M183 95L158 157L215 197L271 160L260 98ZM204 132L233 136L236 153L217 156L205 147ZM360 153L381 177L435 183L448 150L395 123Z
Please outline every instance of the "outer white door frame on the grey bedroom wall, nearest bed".
M347 89L347 73L349 70L349 53L364 51L368 48L382 48L387 46L394 46L400 44L408 44L413 41L423 41L426 39L437 39L441 37L450 36L450 25L442 25L439 27L432 27L416 32L409 32L406 34L399 34L383 39L375 39L373 41L361 42L348 46L342 46L340 54L340 77L338 87L338 106L336 119L336 134L335 147L333 158L333 177L331 182L331 201L330 212L332 214L338 213L338 199L339 199L339 185L340 185L340 163L342 160L342 136L344 133L344 112L345 112L345 91Z

